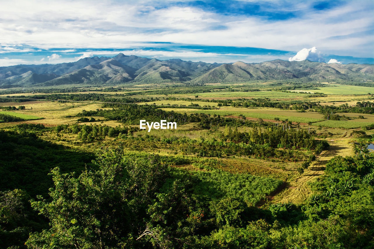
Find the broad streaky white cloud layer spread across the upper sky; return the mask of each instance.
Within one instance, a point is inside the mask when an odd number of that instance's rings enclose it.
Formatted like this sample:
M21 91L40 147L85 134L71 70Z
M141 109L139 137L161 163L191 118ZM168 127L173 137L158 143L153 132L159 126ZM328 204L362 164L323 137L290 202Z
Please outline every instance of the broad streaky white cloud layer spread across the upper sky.
M156 8L156 1L137 1L136 4L111 0L93 1L94 4L87 0L15 2L1 3L0 44L27 44L56 53L70 52L53 50L58 47L121 49L135 47L139 41L287 51L313 44L325 53L363 57L368 57L367 51L373 51L371 34L349 36L372 29L369 1L360 1L360 4L347 1L321 12L310 9L310 4L295 3L286 11L298 10L304 15L278 21L174 4ZM218 26L224 28L214 28ZM337 36L347 37L332 42L331 37ZM0 47L0 53L21 52L16 49Z

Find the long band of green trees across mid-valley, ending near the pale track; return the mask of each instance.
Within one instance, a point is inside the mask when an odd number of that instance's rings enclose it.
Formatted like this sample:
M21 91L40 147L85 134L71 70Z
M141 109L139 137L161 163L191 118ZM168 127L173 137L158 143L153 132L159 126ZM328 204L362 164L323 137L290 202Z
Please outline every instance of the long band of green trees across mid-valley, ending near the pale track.
M254 128L249 132L238 132L226 128L220 132L218 140L190 139L172 136L118 136L122 144L131 150L171 150L184 155L200 157L254 156L261 159L277 158L282 161L314 160L329 145L327 141L315 141L302 130L282 130ZM307 155L306 155L307 154ZM314 155L314 156L313 156ZM306 157L307 156L307 157Z

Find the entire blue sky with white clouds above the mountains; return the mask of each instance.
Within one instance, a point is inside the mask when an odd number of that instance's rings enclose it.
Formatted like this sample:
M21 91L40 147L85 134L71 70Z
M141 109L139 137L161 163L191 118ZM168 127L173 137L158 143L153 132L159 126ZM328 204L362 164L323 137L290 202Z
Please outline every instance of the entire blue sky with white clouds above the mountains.
M0 67L118 53L374 64L374 1L1 1Z

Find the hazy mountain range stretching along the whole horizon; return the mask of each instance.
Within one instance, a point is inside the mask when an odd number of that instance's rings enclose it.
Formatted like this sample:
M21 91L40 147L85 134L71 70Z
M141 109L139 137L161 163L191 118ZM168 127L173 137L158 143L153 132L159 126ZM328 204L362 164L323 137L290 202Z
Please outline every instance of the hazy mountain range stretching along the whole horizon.
M205 84L250 80L362 81L374 80L373 64L326 64L312 61L266 61L217 64L181 59L142 58L122 53L76 62L0 67L0 86L31 87L61 84L116 85L128 82Z

